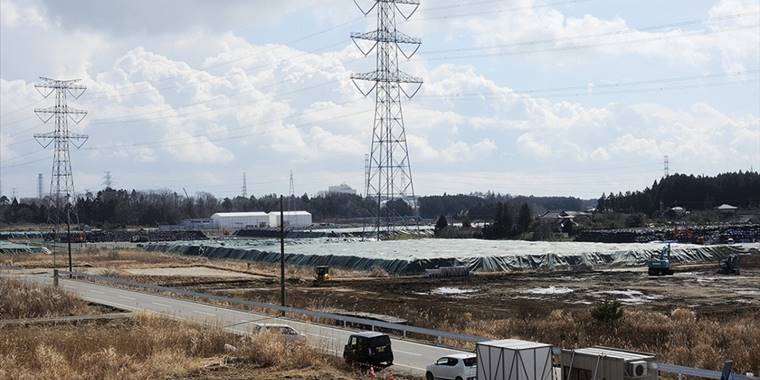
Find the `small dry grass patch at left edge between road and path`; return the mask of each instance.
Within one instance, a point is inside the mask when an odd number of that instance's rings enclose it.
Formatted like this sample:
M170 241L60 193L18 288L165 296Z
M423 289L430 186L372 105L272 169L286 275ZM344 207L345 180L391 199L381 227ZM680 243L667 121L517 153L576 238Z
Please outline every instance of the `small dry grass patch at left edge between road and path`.
M61 290L0 278L0 319L91 314L87 303Z

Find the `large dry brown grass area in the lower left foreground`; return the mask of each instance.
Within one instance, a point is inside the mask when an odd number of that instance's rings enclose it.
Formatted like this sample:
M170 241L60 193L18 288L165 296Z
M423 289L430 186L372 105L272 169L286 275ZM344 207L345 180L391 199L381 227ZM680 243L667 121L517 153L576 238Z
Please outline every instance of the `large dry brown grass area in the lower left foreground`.
M225 344L237 348L226 352ZM316 371L355 378L335 357L276 335L240 337L218 328L138 315L107 325L0 330L2 379L205 378L209 367ZM308 371L307 371L308 370ZM243 374L245 375L245 374Z

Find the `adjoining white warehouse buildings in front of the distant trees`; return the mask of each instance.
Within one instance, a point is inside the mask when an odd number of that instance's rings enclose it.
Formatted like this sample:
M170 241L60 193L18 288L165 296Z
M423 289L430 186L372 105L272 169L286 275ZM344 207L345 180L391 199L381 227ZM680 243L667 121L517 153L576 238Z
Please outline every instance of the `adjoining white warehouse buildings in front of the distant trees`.
M285 211L286 227L308 227L311 225L311 213L308 211ZM217 212L211 215L214 226L220 230L237 231L247 227L280 227L280 212Z

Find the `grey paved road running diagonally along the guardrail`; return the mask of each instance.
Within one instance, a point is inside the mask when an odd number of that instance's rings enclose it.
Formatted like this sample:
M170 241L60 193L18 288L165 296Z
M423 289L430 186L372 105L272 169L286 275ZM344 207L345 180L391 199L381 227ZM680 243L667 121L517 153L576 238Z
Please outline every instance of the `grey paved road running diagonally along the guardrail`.
M49 275L25 275L24 278L38 283L51 284ZM351 331L313 323L274 318L239 310L183 301L154 294L96 285L85 281L60 279L60 285L84 300L129 311L150 311L178 320L188 320L207 325L224 327L226 330L248 334L255 322L284 323L305 334L313 347L341 356L343 345ZM424 375L425 366L437 358L460 351L447 348L392 339L394 365L392 368L416 375Z

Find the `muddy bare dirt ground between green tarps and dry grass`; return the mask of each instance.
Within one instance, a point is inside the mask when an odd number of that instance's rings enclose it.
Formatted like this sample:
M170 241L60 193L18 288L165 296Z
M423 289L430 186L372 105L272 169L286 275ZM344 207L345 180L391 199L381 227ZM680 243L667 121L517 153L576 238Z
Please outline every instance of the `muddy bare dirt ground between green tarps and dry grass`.
M44 268L46 255L0 255L0 265ZM60 260L60 258L59 258ZM115 274L165 286L279 303L279 268L268 264L210 261L139 250L81 251L77 270ZM60 265L60 262L59 262ZM617 299L629 308L670 312L688 308L704 316L760 312L760 256L742 258L740 276L716 274L717 263L682 265L673 276L652 277L644 268L588 273L476 274L464 279L372 277L332 271L315 284L311 268L287 269L288 303L321 310L387 314L425 327L441 327L467 313L474 319L543 317L553 310L587 310Z

